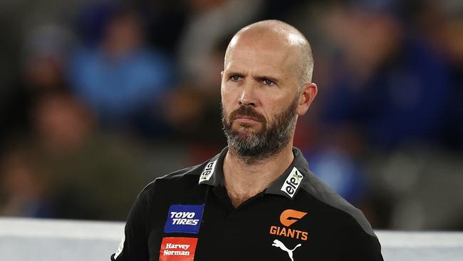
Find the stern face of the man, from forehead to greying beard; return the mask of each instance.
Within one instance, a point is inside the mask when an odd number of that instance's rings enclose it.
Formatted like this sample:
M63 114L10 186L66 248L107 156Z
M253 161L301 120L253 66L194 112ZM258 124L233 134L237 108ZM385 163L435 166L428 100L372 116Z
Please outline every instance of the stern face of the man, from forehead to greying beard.
M295 59L285 42L232 40L222 74L222 123L239 155L266 158L292 138L299 103Z

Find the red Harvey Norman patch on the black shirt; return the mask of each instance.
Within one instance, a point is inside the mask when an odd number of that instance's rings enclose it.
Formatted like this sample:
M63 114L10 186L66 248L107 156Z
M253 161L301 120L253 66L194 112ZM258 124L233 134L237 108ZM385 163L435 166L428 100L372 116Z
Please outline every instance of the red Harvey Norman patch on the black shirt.
M193 261L197 238L162 237L159 261Z

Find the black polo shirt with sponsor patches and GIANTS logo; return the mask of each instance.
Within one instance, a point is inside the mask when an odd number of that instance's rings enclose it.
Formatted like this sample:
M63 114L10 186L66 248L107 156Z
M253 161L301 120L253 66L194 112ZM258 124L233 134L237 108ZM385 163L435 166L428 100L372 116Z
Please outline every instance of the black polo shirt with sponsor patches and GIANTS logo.
M300 150L238 208L224 187L226 154L147 185L111 260L383 260L363 213L321 183Z

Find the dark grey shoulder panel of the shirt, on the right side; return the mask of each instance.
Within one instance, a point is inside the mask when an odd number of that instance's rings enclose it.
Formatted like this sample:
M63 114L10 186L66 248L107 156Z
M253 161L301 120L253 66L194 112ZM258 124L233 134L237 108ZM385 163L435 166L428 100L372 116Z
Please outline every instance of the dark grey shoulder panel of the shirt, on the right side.
M316 210L321 210L320 213L326 215L327 221L338 222L338 225L345 228L360 228L368 235L376 237L370 222L365 218L362 211L335 193L311 171L308 172L307 179L301 183L301 189L305 192L302 193L302 200L307 201L307 198L310 198L311 202L313 202L311 207L316 206Z

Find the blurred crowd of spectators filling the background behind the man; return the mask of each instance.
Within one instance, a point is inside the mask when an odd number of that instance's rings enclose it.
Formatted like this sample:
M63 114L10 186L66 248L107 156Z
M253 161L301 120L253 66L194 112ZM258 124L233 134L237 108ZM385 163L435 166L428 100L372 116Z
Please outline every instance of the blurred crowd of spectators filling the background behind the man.
M150 180L227 145L224 50L296 26L319 92L295 145L373 227L463 230L463 3L0 4L0 216L125 220Z

